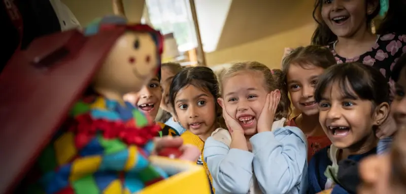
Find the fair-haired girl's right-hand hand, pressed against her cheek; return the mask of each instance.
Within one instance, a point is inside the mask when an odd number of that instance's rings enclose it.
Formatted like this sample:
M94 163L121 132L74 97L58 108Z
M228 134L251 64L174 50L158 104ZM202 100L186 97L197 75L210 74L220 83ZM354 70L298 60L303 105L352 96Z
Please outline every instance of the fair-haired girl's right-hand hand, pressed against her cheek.
M261 114L258 118L258 133L270 131L272 129L272 124L274 123L274 117L276 110L278 109L280 99L281 92L279 89L271 91L266 95L265 105L262 108Z

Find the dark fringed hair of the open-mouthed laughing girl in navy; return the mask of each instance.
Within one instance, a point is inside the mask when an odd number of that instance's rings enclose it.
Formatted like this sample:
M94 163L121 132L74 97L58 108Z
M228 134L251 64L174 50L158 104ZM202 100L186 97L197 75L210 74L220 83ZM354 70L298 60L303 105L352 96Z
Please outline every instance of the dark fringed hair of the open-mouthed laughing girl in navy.
M326 89L337 82L346 98L373 102L374 106L389 103L389 84L377 69L361 63L343 63L328 68L319 79L315 90L317 103Z

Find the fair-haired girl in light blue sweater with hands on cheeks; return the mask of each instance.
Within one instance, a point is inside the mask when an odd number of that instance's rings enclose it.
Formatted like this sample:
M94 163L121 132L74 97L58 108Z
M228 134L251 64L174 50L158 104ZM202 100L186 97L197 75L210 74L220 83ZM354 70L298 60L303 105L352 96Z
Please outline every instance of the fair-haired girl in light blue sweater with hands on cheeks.
M306 191L306 137L297 127L283 127L288 104L279 100L288 100L287 94L277 90L269 68L236 63L220 80L218 102L228 130L213 132L204 151L216 192Z

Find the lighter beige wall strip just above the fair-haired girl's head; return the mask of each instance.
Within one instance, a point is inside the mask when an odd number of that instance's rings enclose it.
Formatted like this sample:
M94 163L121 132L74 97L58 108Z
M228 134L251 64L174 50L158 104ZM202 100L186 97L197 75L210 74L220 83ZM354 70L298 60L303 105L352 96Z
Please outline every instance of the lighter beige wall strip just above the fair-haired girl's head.
M214 66L236 61L258 61L269 68L279 69L284 48L308 45L315 27L316 25L311 22L295 29L207 53L207 64Z

